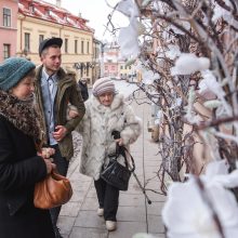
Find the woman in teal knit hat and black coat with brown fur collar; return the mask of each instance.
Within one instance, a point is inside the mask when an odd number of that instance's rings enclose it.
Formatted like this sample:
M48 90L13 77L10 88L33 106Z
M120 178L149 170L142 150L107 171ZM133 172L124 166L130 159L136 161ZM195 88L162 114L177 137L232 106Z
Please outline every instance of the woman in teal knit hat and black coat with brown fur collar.
M50 212L34 207L35 184L54 168L35 146L41 137L32 107L35 68L21 57L0 65L1 238L55 237Z

